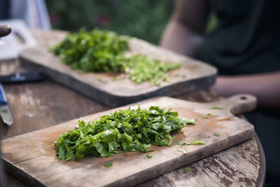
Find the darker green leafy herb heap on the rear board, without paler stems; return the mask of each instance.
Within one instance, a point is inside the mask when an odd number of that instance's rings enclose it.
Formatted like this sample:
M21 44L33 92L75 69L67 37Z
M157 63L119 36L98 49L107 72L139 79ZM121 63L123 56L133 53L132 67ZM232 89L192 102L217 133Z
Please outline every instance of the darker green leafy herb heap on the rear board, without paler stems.
M73 69L94 72L123 71L124 53L129 50L128 38L114 32L93 29L69 33L51 50Z

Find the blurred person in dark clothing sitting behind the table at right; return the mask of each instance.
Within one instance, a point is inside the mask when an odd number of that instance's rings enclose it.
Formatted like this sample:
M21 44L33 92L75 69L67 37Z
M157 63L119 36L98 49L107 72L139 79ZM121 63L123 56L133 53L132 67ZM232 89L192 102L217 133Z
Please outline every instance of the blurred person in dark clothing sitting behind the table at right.
M210 12L219 22L204 36ZM258 98L246 118L265 151L266 186L280 186L280 1L177 0L160 45L216 66L219 94Z

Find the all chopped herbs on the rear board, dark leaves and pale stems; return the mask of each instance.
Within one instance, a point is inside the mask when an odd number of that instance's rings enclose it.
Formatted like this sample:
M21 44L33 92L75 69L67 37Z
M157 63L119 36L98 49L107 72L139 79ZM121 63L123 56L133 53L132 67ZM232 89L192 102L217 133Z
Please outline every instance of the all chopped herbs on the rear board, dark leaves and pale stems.
M68 34L51 51L73 69L120 72L136 83L151 81L153 85L160 85L160 79L167 81L165 73L181 65L160 62L140 54L127 57L125 53L130 50L128 41L129 37L118 36L115 32L80 29L78 33Z

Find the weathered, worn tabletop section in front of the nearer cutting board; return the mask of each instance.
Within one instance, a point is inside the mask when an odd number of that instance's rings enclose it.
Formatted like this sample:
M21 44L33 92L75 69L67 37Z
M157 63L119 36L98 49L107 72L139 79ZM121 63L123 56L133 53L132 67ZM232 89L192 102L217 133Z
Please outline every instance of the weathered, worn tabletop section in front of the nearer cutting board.
M264 176L259 174L263 168L261 169L258 163L263 160L260 160L262 157L257 142L258 138L254 137L152 181L142 183L139 187L262 186L262 183L257 183L258 177ZM186 171L186 167L191 170Z

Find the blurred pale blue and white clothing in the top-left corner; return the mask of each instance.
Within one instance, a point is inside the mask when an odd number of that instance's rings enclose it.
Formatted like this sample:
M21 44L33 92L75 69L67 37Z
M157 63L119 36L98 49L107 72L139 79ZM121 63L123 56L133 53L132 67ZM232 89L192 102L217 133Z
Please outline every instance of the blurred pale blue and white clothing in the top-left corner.
M0 0L0 19L21 19L29 28L51 29L45 0Z

